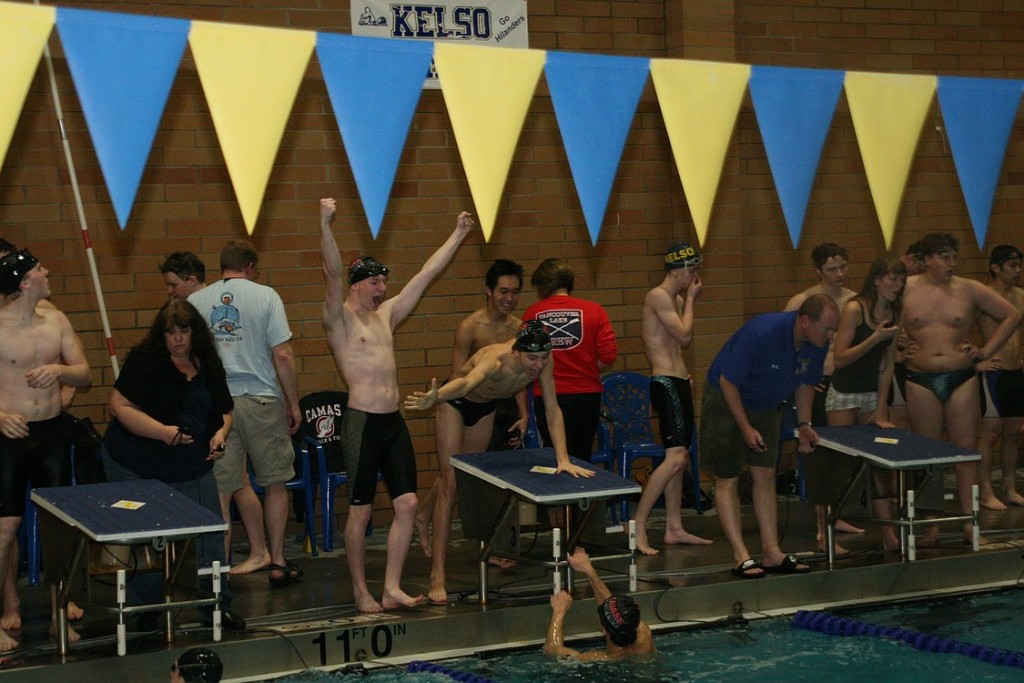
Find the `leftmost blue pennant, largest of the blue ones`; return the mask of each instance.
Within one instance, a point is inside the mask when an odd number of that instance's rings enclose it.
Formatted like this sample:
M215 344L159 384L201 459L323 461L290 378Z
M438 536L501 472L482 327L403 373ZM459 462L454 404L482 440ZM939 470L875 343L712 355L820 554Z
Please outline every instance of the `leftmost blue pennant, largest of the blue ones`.
M190 23L57 7L56 26L124 229Z

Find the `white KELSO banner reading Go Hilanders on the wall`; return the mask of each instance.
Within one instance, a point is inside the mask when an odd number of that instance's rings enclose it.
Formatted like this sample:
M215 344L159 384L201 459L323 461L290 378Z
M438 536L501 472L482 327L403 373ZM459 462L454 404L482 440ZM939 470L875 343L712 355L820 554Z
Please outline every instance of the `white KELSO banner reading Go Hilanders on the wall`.
M529 47L526 0L350 0L352 35L403 40L464 40L473 45ZM439 87L433 62L426 87Z

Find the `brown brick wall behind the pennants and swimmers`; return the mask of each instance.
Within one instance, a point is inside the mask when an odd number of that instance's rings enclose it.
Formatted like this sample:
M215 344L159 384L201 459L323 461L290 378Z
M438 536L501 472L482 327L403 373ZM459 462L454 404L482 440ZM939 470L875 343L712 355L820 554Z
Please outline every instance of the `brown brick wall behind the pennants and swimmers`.
M60 4L341 33L350 28L345 0ZM530 44L540 49L1020 78L1024 20L1013 11L1018 5L1010 0L530 0L528 11ZM213 278L221 245L244 237L245 229L187 51L131 220L122 232L59 42L54 39L51 46L113 336L123 357L164 300L157 271L162 256L177 249L195 251ZM963 272L980 276L984 260L970 231L941 128L937 114L929 118L894 249L902 251L926 231L948 229L963 243ZM989 246L1020 242L1021 138L1018 125L995 197ZM41 69L0 169L0 233L31 246L53 271L54 301L70 314L93 367L94 387L82 392L76 412L102 423L113 373L68 183L53 102ZM440 93L423 93L389 212L375 242L315 59L308 69L253 237L261 253L262 282L281 293L288 308L302 392L340 385L319 325L317 199L325 196L339 200L336 228L343 258L374 254L393 267L391 287L398 291L450 233L455 215L472 210ZM402 390L446 373L452 333L459 319L480 304L482 273L496 257L519 260L527 276L544 258L567 258L577 270L577 293L608 309L622 350L616 368L646 372L640 306L647 288L659 281L660 254L676 239L694 238L653 87L648 83L641 98L601 239L592 247L542 80L490 243L484 244L479 234L470 237L397 334ZM687 354L698 380L724 339L746 317L780 308L793 293L812 284L810 249L826 240L850 248L854 289L866 263L885 249L845 99L825 144L797 250L790 244L748 99L705 245L707 289ZM525 293L522 307L532 300L532 294ZM429 485L434 476L433 419L412 419L410 427L423 471L421 486ZM386 507L385 499L378 504Z

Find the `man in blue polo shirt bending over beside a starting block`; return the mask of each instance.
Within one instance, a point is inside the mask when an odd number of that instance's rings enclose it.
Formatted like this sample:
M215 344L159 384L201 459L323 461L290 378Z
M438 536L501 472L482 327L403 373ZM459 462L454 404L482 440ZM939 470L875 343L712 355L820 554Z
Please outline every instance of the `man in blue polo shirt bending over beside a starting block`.
M796 391L800 452L810 453L818 440L811 428L814 387L838 324L836 302L823 294L808 297L799 310L757 315L729 338L708 371L700 458L715 475L715 505L736 562L732 573L741 579L810 571L778 545L778 407ZM744 464L753 481L761 561L743 543L737 484Z

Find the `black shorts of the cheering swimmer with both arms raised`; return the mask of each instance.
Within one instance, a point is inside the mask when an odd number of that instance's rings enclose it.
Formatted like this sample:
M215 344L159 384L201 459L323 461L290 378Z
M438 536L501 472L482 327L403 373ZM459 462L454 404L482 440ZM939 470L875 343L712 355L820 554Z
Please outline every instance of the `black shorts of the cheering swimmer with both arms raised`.
M416 454L401 413L364 413L349 408L341 419L341 450L348 473L348 502L371 505L377 472L391 500L416 493Z

